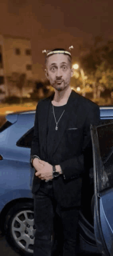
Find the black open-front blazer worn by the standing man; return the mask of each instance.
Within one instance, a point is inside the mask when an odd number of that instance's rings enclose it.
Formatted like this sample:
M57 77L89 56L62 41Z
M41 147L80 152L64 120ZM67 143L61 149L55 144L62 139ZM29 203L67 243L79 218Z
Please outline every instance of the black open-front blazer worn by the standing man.
M63 207L77 206L81 205L83 177L92 167L90 124L99 121L100 110L97 104L72 90L56 132L59 133L58 140L48 159L47 120L53 96L36 106L31 155L38 155L51 165L61 166L65 179L63 175L53 179L54 197ZM40 182L34 174L33 194L39 189Z

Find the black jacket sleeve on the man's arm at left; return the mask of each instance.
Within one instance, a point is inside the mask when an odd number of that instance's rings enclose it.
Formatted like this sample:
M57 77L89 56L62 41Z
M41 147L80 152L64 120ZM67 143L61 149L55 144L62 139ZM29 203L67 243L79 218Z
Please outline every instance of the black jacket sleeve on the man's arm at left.
M35 120L34 120L34 134L33 134L32 143L31 143L30 159L31 159L32 155L37 155L37 156L40 157L40 150L39 150L39 124L38 124L37 108L38 108L38 105L36 106L36 113L35 113ZM30 164L31 164L31 162L30 162ZM32 166L32 164L31 164L31 166Z

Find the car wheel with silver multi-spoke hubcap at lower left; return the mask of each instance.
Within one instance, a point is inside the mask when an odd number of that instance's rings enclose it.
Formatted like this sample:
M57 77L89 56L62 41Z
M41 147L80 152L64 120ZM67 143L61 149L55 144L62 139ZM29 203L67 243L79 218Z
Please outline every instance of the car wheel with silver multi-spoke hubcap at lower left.
M33 203L16 203L8 212L5 221L5 236L8 244L21 255L33 255L34 244Z

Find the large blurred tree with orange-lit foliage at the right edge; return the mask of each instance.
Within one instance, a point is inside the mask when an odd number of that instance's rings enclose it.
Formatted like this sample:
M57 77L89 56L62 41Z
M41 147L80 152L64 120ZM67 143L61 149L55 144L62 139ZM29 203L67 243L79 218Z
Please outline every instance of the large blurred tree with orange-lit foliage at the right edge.
M103 86L112 88L113 41L104 44L101 36L95 38L89 52L80 56L81 67L87 75L86 83L93 87L93 98L100 98Z

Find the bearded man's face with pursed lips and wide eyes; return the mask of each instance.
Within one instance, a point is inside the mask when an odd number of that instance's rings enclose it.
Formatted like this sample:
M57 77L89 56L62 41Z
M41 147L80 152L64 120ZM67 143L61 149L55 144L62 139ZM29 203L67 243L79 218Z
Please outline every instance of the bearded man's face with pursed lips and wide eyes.
M70 85L70 79L73 74L67 55L53 54L48 57L46 65L46 77L51 86L62 91Z

